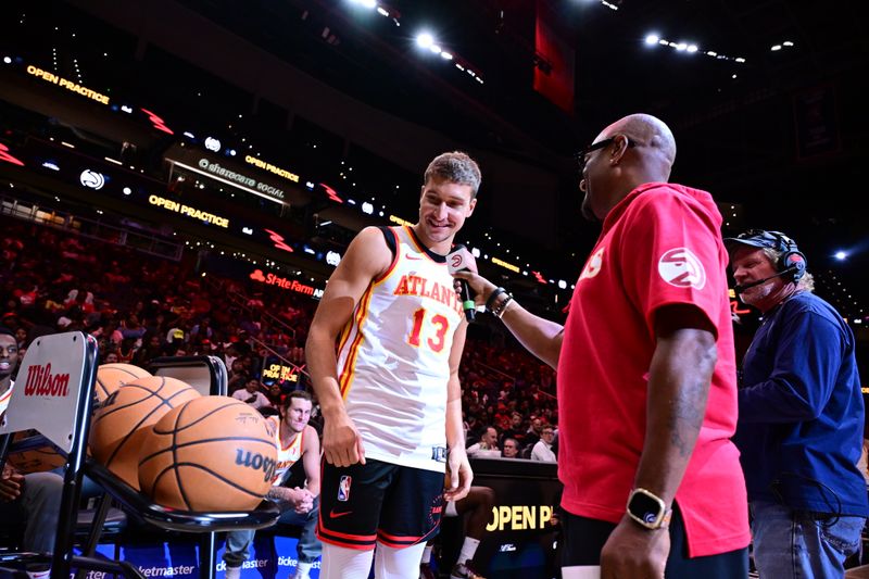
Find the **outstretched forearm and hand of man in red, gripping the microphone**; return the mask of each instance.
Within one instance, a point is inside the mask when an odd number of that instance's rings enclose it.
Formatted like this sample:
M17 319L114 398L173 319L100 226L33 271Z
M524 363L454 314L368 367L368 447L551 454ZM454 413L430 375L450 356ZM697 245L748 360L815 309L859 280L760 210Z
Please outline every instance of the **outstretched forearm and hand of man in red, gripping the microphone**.
M477 305L486 304L496 289L494 284L479 274L462 270L456 272L453 276L467 280L470 289L474 290L474 301ZM526 350L544 364L558 369L564 326L536 316L515 301L507 304L501 320Z

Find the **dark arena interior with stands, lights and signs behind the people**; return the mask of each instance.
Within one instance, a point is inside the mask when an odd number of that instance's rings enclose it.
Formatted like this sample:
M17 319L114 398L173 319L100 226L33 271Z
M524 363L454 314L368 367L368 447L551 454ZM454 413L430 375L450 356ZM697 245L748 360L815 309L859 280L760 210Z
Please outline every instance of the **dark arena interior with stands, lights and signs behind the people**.
M865 372L868 27L840 0L0 2L0 325L22 349L90 333L100 363L217 356L230 392L252 378L274 402L310 388L307 327L351 239L415 223L421 171L450 150L482 169L456 241L561 324L600 232L574 155L644 112L672 128L672 180L711 192L726 237L799 243ZM740 356L759 316L734 295ZM512 428L527 455L557 426L554 372L490 315L461 378L468 443ZM473 464L495 491L480 574L557 577L555 465ZM259 532L242 577L286 577L298 534ZM444 520L442 577L463 536ZM98 553L186 578L199 549L129 520Z

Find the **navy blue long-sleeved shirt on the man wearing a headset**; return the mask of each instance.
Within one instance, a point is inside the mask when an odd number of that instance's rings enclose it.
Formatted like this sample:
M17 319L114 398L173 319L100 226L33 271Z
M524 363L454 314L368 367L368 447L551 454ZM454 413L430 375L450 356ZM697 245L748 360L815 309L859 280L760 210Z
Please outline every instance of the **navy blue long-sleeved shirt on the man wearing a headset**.
M854 335L809 292L765 316L743 362L734 442L750 501L869 515Z

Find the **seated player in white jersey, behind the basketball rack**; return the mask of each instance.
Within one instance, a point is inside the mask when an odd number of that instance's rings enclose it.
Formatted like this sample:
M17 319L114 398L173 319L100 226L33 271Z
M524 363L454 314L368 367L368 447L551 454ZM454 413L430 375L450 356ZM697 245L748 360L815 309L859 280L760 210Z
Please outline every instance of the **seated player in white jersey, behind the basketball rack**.
M275 431L275 443L278 446L278 464L266 499L278 503L284 511L278 523L302 527L297 546L299 564L294 579L307 579L311 567L322 551L315 534L319 511L319 438L314 427L307 424L311 419L311 394L304 390L295 390L290 392L280 407L280 417L266 417L269 429ZM284 487L290 468L300 460L305 470L305 487ZM227 533L224 552L226 579L239 578L241 564L248 558L248 547L253 536L253 530Z

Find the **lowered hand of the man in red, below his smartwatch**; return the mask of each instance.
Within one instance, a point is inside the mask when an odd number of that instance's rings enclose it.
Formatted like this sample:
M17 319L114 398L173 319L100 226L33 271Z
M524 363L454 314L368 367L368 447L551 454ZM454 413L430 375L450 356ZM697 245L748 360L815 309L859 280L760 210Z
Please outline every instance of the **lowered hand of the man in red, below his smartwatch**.
M625 515L601 550L601 579L663 579L669 554L667 529L644 529Z

